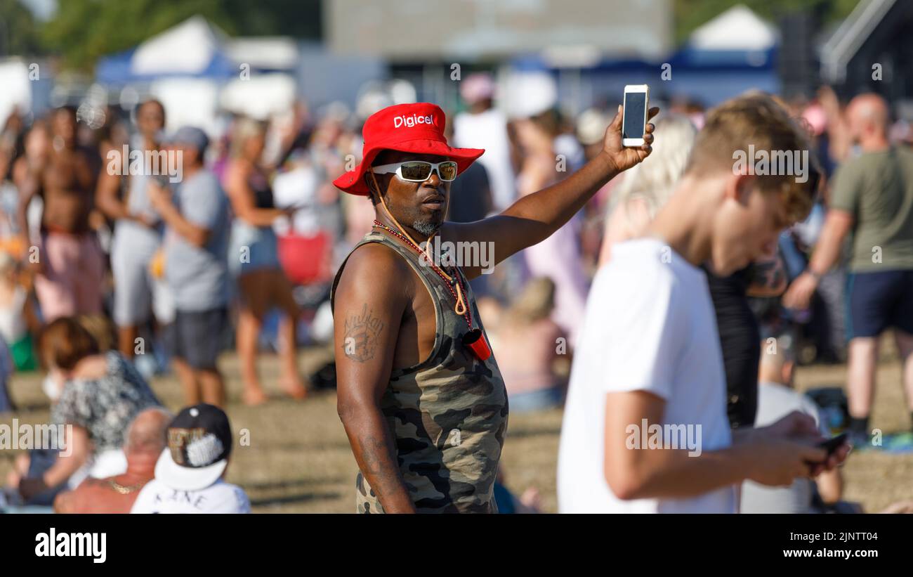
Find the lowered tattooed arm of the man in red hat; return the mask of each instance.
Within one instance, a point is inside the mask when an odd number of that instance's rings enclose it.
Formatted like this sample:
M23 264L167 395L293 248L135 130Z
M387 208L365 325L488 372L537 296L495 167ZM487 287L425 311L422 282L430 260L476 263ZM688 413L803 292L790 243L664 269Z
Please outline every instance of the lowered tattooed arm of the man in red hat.
M337 411L358 467L387 513L415 512L381 410L400 324L412 301L408 283L396 279L409 274L389 248L366 245L349 257L334 300Z

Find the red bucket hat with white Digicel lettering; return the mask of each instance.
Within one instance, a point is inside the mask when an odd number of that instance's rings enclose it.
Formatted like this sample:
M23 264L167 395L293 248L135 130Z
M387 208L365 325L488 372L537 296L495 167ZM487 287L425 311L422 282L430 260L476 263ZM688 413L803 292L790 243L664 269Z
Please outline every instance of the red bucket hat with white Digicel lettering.
M370 194L364 174L383 150L446 156L456 161L457 174L463 173L485 150L449 146L444 138L445 123L444 110L430 102L396 104L374 112L364 121L362 129L362 163L333 184L350 194Z

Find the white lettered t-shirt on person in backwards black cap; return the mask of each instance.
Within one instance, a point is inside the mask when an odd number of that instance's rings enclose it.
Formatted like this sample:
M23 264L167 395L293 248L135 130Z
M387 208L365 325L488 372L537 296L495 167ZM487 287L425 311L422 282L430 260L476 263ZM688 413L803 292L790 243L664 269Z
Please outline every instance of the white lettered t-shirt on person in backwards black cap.
M152 479L140 491L131 513L249 513L244 489L219 479L207 488L184 491Z

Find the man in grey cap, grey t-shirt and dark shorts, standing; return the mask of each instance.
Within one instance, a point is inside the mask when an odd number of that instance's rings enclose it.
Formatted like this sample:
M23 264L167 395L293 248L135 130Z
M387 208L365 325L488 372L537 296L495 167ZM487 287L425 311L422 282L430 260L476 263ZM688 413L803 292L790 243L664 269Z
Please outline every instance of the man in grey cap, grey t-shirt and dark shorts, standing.
M225 404L225 383L216 365L228 313L228 200L205 168L206 133L184 126L168 139L179 154L183 177L172 192L150 187L152 206L165 222L164 277L173 291L174 369L188 404Z

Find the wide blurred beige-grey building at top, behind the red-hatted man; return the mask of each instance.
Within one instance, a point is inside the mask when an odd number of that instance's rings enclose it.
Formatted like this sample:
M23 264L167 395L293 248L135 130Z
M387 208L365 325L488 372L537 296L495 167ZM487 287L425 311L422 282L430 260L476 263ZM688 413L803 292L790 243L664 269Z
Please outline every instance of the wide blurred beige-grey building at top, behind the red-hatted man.
M593 97L582 87L580 68L606 57L662 58L674 36L670 0L333 0L325 5L324 37L333 54L384 58L422 98L445 109L459 102L454 65L461 77L468 68L497 66L498 91L506 94L509 63L529 55L560 70L559 100L576 113L578 102L588 104Z

